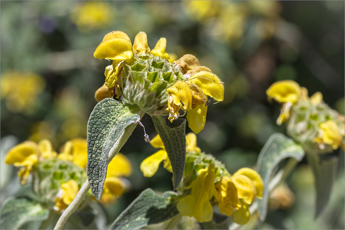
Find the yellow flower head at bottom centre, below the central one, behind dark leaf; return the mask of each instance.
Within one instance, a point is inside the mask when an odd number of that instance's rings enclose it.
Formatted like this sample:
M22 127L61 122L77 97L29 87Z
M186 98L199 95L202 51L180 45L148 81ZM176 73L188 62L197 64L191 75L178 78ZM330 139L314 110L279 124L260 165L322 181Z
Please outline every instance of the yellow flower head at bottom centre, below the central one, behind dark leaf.
M152 146L161 150L142 161L140 170L144 176L153 176L159 164L169 170L169 159L164 145L157 135ZM186 166L183 183L178 191L184 195L177 203L177 210L185 216L195 217L199 222L210 221L214 205L221 213L232 215L236 223L245 224L250 219L249 205L255 197L262 198L263 181L253 169L242 168L230 175L224 165L212 155L202 153L197 147L196 135L186 135Z

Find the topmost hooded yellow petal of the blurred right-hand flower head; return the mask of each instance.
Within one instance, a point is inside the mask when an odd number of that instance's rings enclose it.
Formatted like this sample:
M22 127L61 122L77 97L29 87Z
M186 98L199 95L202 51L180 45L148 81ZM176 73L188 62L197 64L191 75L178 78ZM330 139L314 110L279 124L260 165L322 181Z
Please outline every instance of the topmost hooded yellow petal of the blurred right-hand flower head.
M301 87L293 80L279 81L266 90L266 95L279 103L296 103L301 95Z

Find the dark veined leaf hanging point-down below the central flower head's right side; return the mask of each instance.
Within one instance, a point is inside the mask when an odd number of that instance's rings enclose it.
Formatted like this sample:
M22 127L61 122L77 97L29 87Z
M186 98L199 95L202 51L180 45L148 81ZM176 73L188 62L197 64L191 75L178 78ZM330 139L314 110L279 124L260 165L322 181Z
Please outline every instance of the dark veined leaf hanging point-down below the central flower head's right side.
M171 162L175 190L180 184L185 170L186 119L176 119L171 123L167 116L151 117Z

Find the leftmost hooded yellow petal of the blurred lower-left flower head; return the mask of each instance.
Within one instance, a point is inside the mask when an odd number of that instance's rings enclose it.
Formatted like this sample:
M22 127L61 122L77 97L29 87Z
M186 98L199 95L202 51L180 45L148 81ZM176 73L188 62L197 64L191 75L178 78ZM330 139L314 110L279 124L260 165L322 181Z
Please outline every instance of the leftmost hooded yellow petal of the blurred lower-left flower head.
M26 141L11 148L6 157L6 164L16 167L36 164L38 161L38 146L33 141Z

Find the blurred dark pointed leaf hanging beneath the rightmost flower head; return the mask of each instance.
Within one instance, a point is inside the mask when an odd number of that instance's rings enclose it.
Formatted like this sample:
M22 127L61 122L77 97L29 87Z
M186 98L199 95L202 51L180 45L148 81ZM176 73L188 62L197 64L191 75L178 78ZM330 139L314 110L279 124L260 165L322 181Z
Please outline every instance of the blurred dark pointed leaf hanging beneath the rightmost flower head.
M338 157L334 156L330 159L321 159L314 153L306 153L306 157L315 177L315 218L317 218L326 207L329 196L331 195Z

